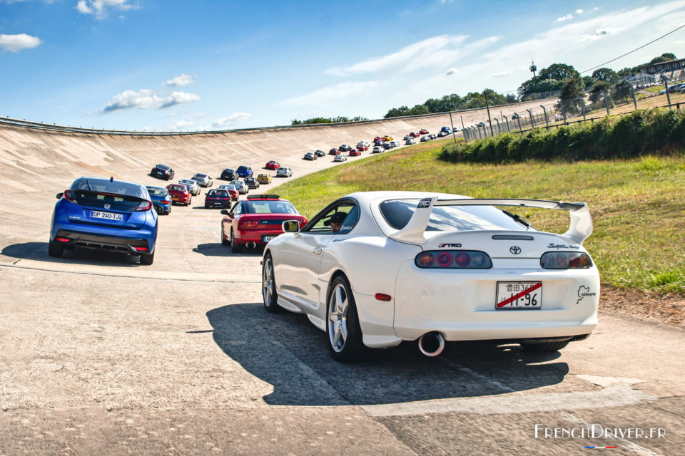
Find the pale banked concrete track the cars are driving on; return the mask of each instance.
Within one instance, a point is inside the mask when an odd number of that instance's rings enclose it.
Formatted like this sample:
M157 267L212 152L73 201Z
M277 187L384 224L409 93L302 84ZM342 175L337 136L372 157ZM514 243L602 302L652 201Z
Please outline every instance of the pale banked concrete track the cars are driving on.
M447 115L173 136L0 125L0 455L681 454L675 328L603 314L587 341L544 356L460 344L436 359L406 346L335 363L303 316L263 311L259 255L220 245L202 195L161 217L151 266L47 255L55 195L79 175L164 185L147 175L157 162L180 178L275 159L297 177L333 165L306 151L442 125ZM623 437L545 433L591 425Z

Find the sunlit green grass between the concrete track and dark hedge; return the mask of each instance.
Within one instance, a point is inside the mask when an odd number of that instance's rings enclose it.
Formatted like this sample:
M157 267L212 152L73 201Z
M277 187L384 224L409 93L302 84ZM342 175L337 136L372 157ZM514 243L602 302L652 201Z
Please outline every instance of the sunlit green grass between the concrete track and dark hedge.
M472 197L587 202L594 232L585 242L604 284L685 296L685 154L630 160L449 163L447 141L405 147L280 185L306 217L351 192L423 190ZM564 232L568 214L526 209L537 229Z

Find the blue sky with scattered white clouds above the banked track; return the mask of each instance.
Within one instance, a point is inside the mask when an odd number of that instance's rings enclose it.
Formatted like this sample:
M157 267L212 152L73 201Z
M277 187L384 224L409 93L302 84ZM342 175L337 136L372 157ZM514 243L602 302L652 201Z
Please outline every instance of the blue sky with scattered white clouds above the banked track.
M680 1L0 0L0 115L228 130L516 90L685 24ZM685 57L685 28L608 66ZM589 73L585 73L589 74Z

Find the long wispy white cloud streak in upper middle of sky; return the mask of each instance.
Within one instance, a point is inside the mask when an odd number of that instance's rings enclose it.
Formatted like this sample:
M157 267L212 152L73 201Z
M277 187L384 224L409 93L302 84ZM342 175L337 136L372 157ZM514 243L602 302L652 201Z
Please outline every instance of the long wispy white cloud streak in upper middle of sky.
M413 71L426 66L447 66L470 53L463 45L465 35L440 35L427 38L385 56L369 58L352 66L333 67L324 71L332 76L381 73L388 70Z

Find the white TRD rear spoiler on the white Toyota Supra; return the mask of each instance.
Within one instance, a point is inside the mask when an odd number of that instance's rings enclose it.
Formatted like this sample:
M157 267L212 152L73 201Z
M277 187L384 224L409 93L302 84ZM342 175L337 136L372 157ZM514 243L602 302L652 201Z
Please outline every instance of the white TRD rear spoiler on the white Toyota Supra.
M512 207L538 207L540 209L562 209L569 211L571 223L569 230L562 236L573 239L582 244L592 234L592 217L590 209L584 202L561 202L547 201L544 199L438 199L437 197L423 198L419 201L414 215L407 225L400 231L391 234L390 237L397 241L426 242L424 232L428 226L430 214L434 206L512 206Z

